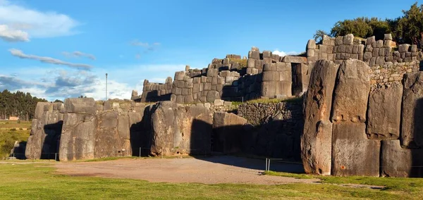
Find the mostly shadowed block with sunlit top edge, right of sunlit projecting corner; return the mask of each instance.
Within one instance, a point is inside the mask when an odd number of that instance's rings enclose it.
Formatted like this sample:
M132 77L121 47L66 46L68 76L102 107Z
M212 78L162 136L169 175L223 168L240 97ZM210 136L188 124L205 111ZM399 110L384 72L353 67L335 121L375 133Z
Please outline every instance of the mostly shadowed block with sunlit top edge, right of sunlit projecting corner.
M233 113L217 112L213 117L213 151L238 153L247 120Z

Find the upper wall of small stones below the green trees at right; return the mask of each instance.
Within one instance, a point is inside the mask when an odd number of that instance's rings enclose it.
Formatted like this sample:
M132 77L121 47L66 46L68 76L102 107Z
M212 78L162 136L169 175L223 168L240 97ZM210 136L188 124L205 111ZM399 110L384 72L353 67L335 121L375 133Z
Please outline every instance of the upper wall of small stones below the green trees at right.
M372 84L398 82L405 73L419 71L423 60L422 49L417 49L415 44L400 44L397 47L391 34L386 34L383 40L378 41L375 37L358 39L352 34L336 38L324 37L321 44L310 39L306 50L310 65L321 59L338 64L350 58L364 61L372 69Z

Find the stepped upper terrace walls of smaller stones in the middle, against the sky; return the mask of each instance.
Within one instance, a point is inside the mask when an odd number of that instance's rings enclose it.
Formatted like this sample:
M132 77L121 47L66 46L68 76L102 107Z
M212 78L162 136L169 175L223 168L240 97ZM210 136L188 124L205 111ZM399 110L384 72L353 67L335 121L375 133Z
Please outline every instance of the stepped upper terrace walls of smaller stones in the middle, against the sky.
M308 80L305 57L281 57L271 51L260 53L253 47L248 59L228 54L223 59L214 58L202 70L190 69L187 65L185 71L175 73L171 93L167 90L159 92L158 86L152 87L146 82L142 96L171 94L170 100L178 104L212 103L216 99L247 101L261 97L279 98L302 94L307 89ZM132 99L147 101L135 94Z

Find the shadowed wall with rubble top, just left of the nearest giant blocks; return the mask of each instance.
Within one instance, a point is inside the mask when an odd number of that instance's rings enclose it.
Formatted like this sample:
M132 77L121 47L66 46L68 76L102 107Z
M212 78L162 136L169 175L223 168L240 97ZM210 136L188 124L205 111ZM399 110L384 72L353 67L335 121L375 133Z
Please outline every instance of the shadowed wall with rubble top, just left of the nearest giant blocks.
M280 103L247 103L238 115L252 127L242 137L245 154L300 161L300 136L304 127L302 99Z

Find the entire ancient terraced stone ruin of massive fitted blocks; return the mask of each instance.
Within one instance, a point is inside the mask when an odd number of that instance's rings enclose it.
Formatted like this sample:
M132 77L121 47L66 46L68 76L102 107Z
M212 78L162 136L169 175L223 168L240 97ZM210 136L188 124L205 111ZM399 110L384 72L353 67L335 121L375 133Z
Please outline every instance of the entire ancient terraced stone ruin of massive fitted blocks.
M319 175L423 177L422 60L391 35L309 40L300 56L253 47L164 84L145 80L131 100L39 103L25 156L219 152L302 161ZM288 101L247 101L260 98Z

